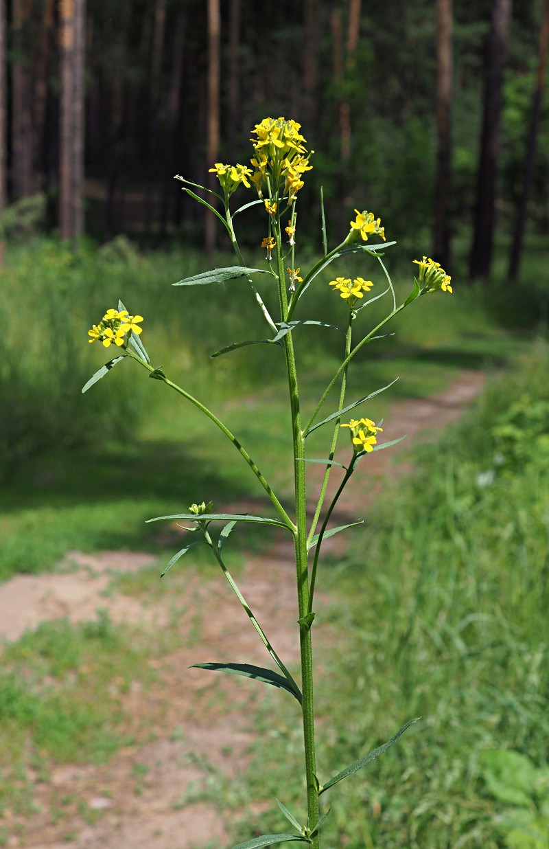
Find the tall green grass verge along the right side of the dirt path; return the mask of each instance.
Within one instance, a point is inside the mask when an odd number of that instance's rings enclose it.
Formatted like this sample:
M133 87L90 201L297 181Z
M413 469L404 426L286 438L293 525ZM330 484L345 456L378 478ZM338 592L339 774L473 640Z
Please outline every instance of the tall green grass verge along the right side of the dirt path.
M327 793L328 846L547 844L547 361L538 350L419 450L417 472L373 507L366 545L322 576L332 599L318 610L331 634L317 658L321 782L422 717ZM302 819L299 723L283 698L282 722L271 705L242 791L221 782L221 794L238 810L283 787ZM249 818L249 836L282 830L279 812Z

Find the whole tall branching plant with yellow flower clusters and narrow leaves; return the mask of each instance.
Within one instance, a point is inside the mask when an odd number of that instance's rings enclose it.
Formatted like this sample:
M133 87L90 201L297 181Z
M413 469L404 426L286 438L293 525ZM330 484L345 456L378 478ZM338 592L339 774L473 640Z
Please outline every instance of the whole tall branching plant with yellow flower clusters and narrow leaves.
M166 565L163 574L176 563L176 560L194 546L199 544L208 546L236 593L238 601L242 604L246 616L249 617L255 627L272 661L271 665L266 667L240 663L199 663L196 666L242 675L277 687L295 700L296 711L300 711L302 718L306 821L300 822L293 813L284 807L282 802L278 801L283 816L291 824L291 831L286 829L286 832L281 834L255 837L240 843L235 849L271 846L274 843L284 841L305 842L313 846L314 849L318 849L321 845L322 824L329 812L329 808L327 812L321 811L321 796L323 797L328 790L331 790L334 784L338 784L339 781L346 779L352 773L356 773L367 763L373 761L374 758L383 754L412 722L417 722L417 718L408 719L406 724L396 731L395 735L387 740L384 745L378 746L377 749L370 751L358 761L351 763L342 772L328 778L317 776L312 637L315 621L314 597L322 542L335 533L361 524L361 521L358 520L350 525L331 527L328 530L328 521L338 498L351 475L355 474L361 460L367 458L374 451L387 448L400 441L379 441L382 438L383 428L380 427L380 423L376 424L372 419L364 417L342 421L344 418L347 419L351 411L366 405L369 398L383 391L378 389L350 403L347 402L345 393L348 369L356 353L369 342L380 338L382 336L380 330L384 328L384 325L398 312L409 306L412 301L415 301L417 297L438 290L451 292L451 278L438 262L428 259L426 256L423 256L421 260L413 260L419 267L419 273L414 278L410 295L400 305L397 305L395 289L382 258L384 251L395 245L395 242L386 241L380 218L371 211L355 210L356 217L350 222L350 230L346 239L333 250L328 250L322 204L322 257L308 270L302 271L301 267L297 266L295 259L296 241L299 233L297 205L300 191L304 187L306 173L311 171L312 166L311 154L305 148L306 142L300 133L300 128L300 124L295 121L286 121L284 118L277 118L276 120L265 118L260 124L257 124L253 130L256 138L251 139L254 147L254 155L250 160L251 167L216 162L210 169L210 171L216 173L219 179L221 194L212 192L197 183L191 183L184 177L176 177L184 184L184 190L199 203L207 206L211 213L217 216L221 225L226 228L238 258L238 265L216 268L214 271L180 280L175 285L230 284L232 279L244 276L249 281L251 296L255 298L268 328L266 339L237 342L221 349L221 351L216 351L212 356L217 357L236 348L253 345L255 342L261 341L277 346L280 357L284 358L288 376L289 408L293 436L293 456L289 457L289 463L293 465L294 469L294 503L292 509L287 510L283 507L269 481L261 473L260 466L255 462L255 459L249 456L244 445L238 441L237 436L232 434L226 424L182 386L170 380L163 368L154 367L141 340L143 317L131 315L120 301L116 309L107 310L101 321L97 325L94 324L89 331L90 342L101 342L106 348L115 345L117 356L106 363L103 368L100 368L87 382L83 390L86 391L105 374L108 374L109 370L118 363L124 360L134 360L148 371L149 377L154 378L154 380L161 380L165 385L170 386L171 389L199 408L205 416L216 424L227 436L227 440L232 442L232 445L242 455L244 462L249 465L249 469L264 490L265 497L272 503L276 512L275 518L263 515L216 513L213 503L202 502L192 504L185 513L160 516L158 519L151 520L185 520L190 523L187 527L189 532L188 542L174 554ZM194 189L198 189L201 194L196 194ZM257 196L255 200L249 200L232 211L232 195L241 189L255 192ZM211 203L210 200L206 200L208 195L210 195ZM213 199L219 202L223 214L216 209L216 201ZM261 247L266 250L266 267L263 268L248 267L245 264L234 228L236 216L249 207L255 207L265 223L265 238L261 242ZM339 368L335 370L311 414L305 417L300 404L300 375L294 357L294 335L306 333L306 325L321 325L327 331L333 329L333 325L317 321L315 318L301 317L301 299L309 286L320 285L319 275L324 269L332 263L337 263L339 272L342 261L350 254L360 256L365 267L372 265L373 269L381 268L387 285L379 294L368 297L371 290L375 292L373 281L370 279L363 277L348 278L342 275L334 278L328 284L332 287L334 298L340 297L346 305L342 305L346 316L345 344L342 346ZM258 274L268 275L269 283L273 289L277 290L278 308L276 316L272 316L255 286L255 276ZM368 328L367 307L384 295L389 298L388 314L375 327ZM335 385L339 385L339 403L336 409L327 410L325 404ZM387 386L383 387L383 389L387 388ZM313 430L321 427L327 432L326 456L324 458L311 458L307 455L307 437ZM336 463L333 460L342 428L346 429L346 432L350 435L350 455L346 465ZM322 463L325 466L322 484L314 496L316 507L311 521L307 520L305 501L306 462ZM327 495L328 481L332 474L340 475L341 481L331 503L326 506L324 500ZM296 627L299 628L301 661L300 676L296 677L297 680L285 666L283 659L277 654L275 646L269 641L225 564L224 548L232 529L238 522L255 522L266 526L281 527L293 538L297 597ZM216 531L216 529L219 529L220 523L221 531Z

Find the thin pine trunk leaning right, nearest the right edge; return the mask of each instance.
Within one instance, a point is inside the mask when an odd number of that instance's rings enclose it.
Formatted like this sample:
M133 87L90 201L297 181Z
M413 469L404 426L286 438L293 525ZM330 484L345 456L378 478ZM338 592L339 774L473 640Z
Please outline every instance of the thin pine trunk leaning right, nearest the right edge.
M507 278L509 283L518 278L520 260L524 242L524 227L528 216L528 200L532 185L532 175L535 163L535 150L537 147L537 134L540 127L541 101L543 98L543 87L545 82L545 71L547 52L549 51L549 0L545 2L543 23L541 25L540 42L538 47L538 70L535 77L535 91L532 98L532 110L530 113L530 124L528 142L526 144L526 156L524 159L523 190L518 201L517 218L513 231L513 244L509 256L509 270Z

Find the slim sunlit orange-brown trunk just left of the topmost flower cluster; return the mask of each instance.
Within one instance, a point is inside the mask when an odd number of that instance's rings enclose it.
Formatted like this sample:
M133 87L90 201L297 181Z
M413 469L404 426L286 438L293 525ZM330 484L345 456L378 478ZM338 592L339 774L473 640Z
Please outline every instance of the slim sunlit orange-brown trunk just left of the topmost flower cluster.
M207 114L207 166L213 166L219 154L219 87L220 87L221 12L219 0L208 0L208 114ZM210 188L216 186L216 175L209 174ZM205 249L216 249L216 218L206 212Z

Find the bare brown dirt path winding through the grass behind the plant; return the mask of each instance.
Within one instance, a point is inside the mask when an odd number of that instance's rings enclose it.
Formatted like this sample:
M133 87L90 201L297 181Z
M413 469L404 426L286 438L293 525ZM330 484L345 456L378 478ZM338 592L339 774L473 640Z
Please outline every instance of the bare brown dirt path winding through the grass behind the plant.
M407 433L423 439L429 429L456 420L484 383L479 372L462 372L446 391L428 399L400 402L390 411L384 436L393 439ZM371 471L382 479L395 453L379 452L368 458ZM369 479L370 480L370 479ZM356 518L360 503L360 475L351 480L349 492L339 504L340 518ZM241 505L242 506L242 505ZM244 509L247 509L244 507ZM340 545L341 537L328 541ZM338 541L336 543L336 541ZM328 548L327 543L327 548ZM16 576L0 585L0 639L14 640L26 628L58 616L72 621L90 619L98 607L109 611L113 621L157 625L166 616L165 601L143 606L121 594L105 596L113 575L138 571L154 558L132 552L104 552L84 555L70 552L67 564L76 568L61 574ZM281 539L263 556L244 565L239 579L253 610L260 610L261 623L277 650L289 665L299 660L295 620L294 563L291 543ZM254 687L245 689L227 676L210 676L188 670L193 662L248 661L265 664L265 649L251 627L243 627L235 615L232 591L220 576L204 582L189 580L186 604L177 622L182 648L166 657L157 672L154 693L139 686L130 689L125 708L133 717L158 719L160 730L154 739L121 749L108 764L57 767L47 783L35 788L36 811L25 817L0 821L11 831L5 846L27 849L201 849L224 846L223 824L218 812L204 803L185 804L184 795L203 776L200 759L223 774L232 775L243 767L246 749L252 742L249 711L227 708L238 701L255 699ZM216 610L216 616L201 611ZM198 619L198 642L196 644ZM195 637L189 640L193 629ZM318 629L322 639L322 625ZM189 644L192 643L192 644ZM222 646L230 646L230 657ZM208 677L210 676L210 678ZM220 680L222 678L222 681ZM215 680L212 680L215 679ZM138 768L137 768L138 767ZM142 774L143 779L137 776ZM72 800L62 818L53 816L59 800Z

